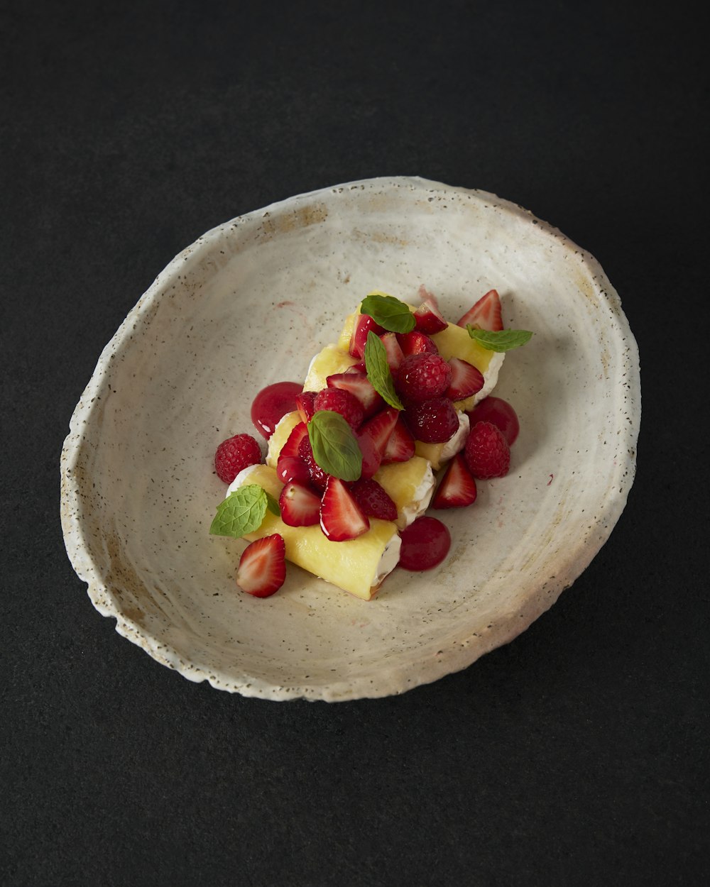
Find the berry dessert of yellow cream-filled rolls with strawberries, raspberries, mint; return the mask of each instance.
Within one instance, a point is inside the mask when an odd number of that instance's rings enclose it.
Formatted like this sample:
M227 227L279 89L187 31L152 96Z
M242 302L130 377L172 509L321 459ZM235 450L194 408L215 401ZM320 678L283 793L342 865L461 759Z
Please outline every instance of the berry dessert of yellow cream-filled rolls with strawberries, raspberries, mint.
M314 357L303 389L281 382L259 393L252 420L269 442L266 465L251 436L220 443L215 468L231 487L210 531L253 539L237 572L243 591L276 592L288 559L369 599L390 548L386 572L446 557L446 526L421 516L429 504L469 506L477 479L508 473L517 416L489 392L504 352L531 334L503 329L495 290L456 325L424 287L420 297L414 308L368 294L338 345ZM432 467L442 468L435 492ZM365 584L331 575L323 561L334 559L361 567Z

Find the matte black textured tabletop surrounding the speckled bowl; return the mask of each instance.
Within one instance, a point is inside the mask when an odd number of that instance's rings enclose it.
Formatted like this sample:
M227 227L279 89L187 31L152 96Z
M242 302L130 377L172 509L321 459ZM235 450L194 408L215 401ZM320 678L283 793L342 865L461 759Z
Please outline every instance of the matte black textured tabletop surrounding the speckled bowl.
M0 883L705 880L698 4L518 5L0 5ZM329 706L191 684L67 561L69 417L182 247L390 174L499 193L603 264L642 357L627 510L548 614L429 687Z

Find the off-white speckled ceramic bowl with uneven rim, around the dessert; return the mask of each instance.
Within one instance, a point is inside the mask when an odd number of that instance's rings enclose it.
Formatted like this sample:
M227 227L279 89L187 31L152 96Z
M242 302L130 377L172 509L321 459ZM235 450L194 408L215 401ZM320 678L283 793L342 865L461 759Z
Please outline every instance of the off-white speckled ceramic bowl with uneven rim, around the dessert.
M368 290L424 283L458 318L496 287L531 329L496 394L520 417L509 475L439 512L449 557L357 600L289 565L257 600L244 543L209 536L217 444L253 433L273 381L301 381ZM609 537L635 471L638 352L596 260L493 194L375 178L220 225L170 263L99 358L62 453L67 552L116 630L185 678L284 700L398 694L512 640Z

